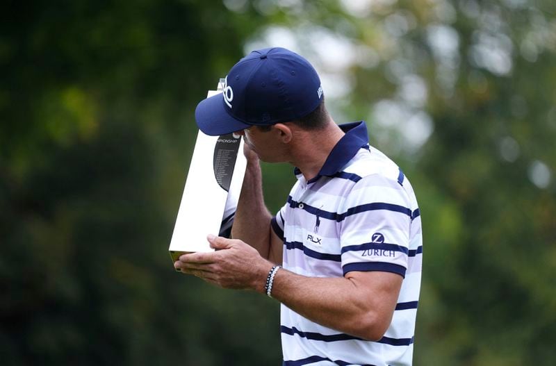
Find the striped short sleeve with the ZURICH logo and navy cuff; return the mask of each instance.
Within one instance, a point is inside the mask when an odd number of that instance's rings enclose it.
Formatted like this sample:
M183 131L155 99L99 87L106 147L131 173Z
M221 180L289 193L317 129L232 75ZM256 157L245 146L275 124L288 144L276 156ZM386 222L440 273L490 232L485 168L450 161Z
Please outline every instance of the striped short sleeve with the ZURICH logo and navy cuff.
M397 181L380 174L362 178L347 195L338 220L344 275L382 271L405 276L411 208Z

